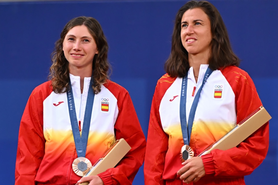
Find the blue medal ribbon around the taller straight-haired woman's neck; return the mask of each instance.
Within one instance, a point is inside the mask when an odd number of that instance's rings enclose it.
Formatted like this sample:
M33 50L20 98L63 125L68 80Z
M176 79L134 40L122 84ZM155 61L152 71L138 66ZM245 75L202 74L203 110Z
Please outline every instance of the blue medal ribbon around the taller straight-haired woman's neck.
M182 78L182 90L180 93L180 125L182 128L183 142L186 145L189 145L189 142L190 142L190 135L191 135L191 130L192 130L192 126L193 126L193 120L195 117L195 112L197 109L197 104L198 104L198 101L200 98L202 88L205 85L205 82L207 81L207 78L210 76L211 73L212 73L212 70L208 67L206 70L202 85L193 100L193 103L192 103L192 106L191 106L191 109L189 112L188 125L187 125L187 120L186 120L186 94L187 94L188 73L185 77Z

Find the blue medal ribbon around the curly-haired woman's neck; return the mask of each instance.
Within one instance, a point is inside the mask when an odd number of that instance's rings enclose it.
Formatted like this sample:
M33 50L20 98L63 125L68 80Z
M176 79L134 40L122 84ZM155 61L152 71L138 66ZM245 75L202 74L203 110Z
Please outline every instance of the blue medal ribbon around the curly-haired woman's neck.
M91 122L91 115L93 110L93 103L94 103L94 91L93 91L93 76L91 77L90 86L88 90L88 97L86 102L86 108L85 108L85 115L84 115L84 122L83 122L83 129L82 134L80 137L79 127L78 127L78 121L76 116L76 110L74 105L74 99L73 99L73 91L71 87L71 79L69 80L70 89L67 92L67 98L68 98L68 112L71 119L71 128L73 132L73 138L74 143L76 147L76 152L78 157L85 157L86 154L86 148L87 148L87 142L88 142L88 135L89 135L89 128L90 128L90 122ZM81 109L81 107L80 107Z

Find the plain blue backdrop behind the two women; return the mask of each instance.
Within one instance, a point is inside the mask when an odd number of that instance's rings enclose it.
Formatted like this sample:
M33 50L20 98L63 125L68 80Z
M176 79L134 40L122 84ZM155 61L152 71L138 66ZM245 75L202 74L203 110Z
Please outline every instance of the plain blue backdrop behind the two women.
M220 11L240 67L254 80L272 115L269 152L246 184L278 184L278 1L210 1ZM14 184L19 124L31 91L47 80L50 54L64 25L92 16L108 39L111 80L131 95L147 136L150 105L171 47L177 10L185 1L48 1L0 3L0 179ZM4 164L3 164L4 162ZM143 183L143 167L133 184Z

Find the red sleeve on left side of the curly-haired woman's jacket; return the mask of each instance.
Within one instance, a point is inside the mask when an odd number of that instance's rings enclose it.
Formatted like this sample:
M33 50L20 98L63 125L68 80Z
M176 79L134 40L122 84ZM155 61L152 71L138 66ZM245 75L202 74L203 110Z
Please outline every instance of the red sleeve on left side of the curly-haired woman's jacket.
M43 99L36 88L29 97L19 127L15 185L35 185L44 156Z

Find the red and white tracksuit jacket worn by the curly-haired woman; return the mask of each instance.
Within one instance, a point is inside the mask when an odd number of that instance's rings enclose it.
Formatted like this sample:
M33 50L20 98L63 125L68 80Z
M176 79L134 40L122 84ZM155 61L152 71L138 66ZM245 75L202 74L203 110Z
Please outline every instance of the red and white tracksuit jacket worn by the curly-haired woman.
M91 78L84 79L83 94L80 77L70 75L70 78L76 115L82 128ZM132 184L143 164L146 145L128 91L108 80L94 98L86 158L94 164L120 138L124 138L131 149L115 168L98 175L105 185ZM76 184L81 178L72 169L76 158L66 93L54 93L51 81L43 83L33 90L21 119L15 184Z

